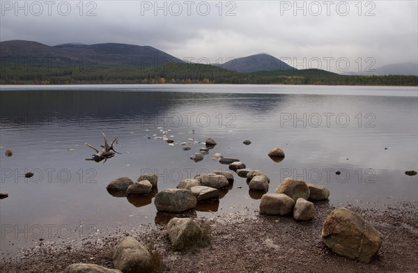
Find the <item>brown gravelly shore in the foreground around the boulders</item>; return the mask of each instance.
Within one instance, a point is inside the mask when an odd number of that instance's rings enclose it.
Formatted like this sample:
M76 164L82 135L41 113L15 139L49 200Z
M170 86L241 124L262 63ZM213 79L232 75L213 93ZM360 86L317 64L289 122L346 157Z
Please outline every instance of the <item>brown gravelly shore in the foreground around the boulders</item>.
M116 243L132 235L160 253L165 272L418 272L418 202L378 209L348 208L361 214L383 235L382 247L369 264L343 258L320 240L322 224L334 207L316 203L314 219L266 217L258 213L197 218L210 225L210 245L173 251L165 227L124 231L117 228L71 242L52 240L15 253L3 253L0 272L61 272L72 263L112 267Z

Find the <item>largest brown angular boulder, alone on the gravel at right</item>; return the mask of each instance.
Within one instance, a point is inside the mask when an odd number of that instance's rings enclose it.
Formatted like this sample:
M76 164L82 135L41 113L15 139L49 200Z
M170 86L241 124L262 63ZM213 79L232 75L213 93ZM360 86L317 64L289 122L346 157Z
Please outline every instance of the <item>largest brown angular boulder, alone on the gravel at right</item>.
M336 208L328 215L321 237L335 253L362 263L369 263L382 244L382 234L346 208Z

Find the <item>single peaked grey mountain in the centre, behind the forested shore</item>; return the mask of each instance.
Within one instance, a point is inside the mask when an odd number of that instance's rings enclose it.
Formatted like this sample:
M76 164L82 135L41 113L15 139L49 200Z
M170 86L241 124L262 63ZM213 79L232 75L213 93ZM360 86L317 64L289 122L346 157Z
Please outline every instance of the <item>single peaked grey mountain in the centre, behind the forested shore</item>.
M269 54L256 54L243 58L233 59L222 64L222 68L238 72L258 72L272 70L295 70L284 61Z

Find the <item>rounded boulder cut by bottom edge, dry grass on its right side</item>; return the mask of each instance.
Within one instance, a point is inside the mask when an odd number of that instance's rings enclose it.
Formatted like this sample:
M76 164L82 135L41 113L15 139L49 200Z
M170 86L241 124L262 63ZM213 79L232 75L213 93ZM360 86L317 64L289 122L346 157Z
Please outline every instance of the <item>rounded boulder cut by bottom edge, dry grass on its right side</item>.
M134 237L125 237L116 246L114 267L123 273L148 272L151 254Z

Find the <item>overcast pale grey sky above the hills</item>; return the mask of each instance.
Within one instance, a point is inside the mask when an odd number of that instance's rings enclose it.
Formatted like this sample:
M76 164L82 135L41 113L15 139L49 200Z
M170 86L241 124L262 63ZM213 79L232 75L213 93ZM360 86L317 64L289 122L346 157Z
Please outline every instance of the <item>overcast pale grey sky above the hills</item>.
M150 45L203 63L264 52L334 72L418 59L415 0L0 2L1 41Z

